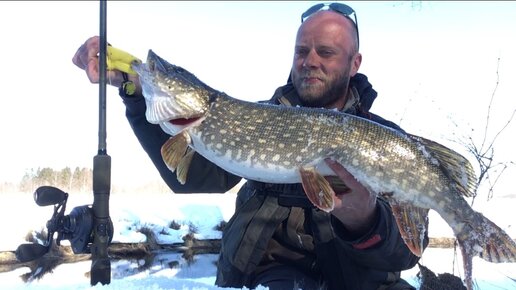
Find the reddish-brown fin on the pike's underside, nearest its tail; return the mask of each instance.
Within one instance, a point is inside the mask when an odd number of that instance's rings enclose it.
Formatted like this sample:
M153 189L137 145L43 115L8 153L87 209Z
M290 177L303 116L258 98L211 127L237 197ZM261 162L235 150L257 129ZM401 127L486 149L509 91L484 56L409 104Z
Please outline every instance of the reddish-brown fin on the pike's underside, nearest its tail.
M429 210L409 203L398 202L393 198L387 198L387 200L391 205L392 214L398 224L403 241L414 255L421 257Z

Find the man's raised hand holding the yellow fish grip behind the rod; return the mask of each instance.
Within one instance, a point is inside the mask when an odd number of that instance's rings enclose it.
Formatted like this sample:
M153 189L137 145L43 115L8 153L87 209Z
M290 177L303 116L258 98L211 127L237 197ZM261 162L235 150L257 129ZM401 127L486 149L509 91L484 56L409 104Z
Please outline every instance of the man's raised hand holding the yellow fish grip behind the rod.
M91 83L99 82L99 43L100 37L90 37L84 44L82 44L72 58L72 62L83 69L88 76ZM136 85L137 93L141 92L141 86L138 76L129 75L129 80L133 81ZM122 72L119 70L108 70L107 71L107 83L120 87L124 81ZM140 93L141 94L141 93Z

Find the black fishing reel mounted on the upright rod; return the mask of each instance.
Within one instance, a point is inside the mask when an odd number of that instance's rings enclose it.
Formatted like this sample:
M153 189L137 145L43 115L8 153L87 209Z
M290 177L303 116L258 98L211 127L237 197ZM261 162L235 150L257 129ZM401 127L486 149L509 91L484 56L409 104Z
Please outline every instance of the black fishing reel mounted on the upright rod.
M54 205L54 213L47 222L47 239L44 244L22 244L16 249L16 259L19 262L28 262L44 256L52 248L54 233L57 233L56 244L62 240L69 240L74 254L91 253L93 242L94 214L90 205L78 206L65 215L68 193L53 187L41 186L34 192L34 201L39 206ZM109 219L109 243L113 238L113 223Z

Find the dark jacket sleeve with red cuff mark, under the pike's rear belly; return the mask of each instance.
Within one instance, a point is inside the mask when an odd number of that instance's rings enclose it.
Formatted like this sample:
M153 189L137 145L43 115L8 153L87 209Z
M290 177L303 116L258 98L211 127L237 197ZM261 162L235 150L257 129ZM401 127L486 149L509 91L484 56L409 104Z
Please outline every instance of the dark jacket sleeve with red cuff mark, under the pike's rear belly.
M359 265L383 271L401 271L414 267L419 257L412 254L401 238L392 210L383 198L377 200L377 221L364 236L349 240L346 228L332 216L332 226L340 244ZM428 231L423 246L428 245Z

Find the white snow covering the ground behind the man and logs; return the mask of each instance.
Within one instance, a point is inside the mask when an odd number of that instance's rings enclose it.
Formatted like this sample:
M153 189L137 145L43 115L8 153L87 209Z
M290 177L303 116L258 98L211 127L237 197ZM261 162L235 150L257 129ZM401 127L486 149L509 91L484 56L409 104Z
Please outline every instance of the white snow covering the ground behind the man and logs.
M234 212L235 194L166 194L116 193L110 197L110 215L114 223L113 242L142 242L141 227L154 231L160 243L182 242L192 229L198 239L220 238L215 228L228 221ZM32 230L44 228L52 214L52 206L39 207L31 193L0 194L2 218L1 251L14 251L24 243ZM70 193L66 214L75 206L89 204L93 196ZM514 198L500 197L489 202L475 202L487 217L516 237L512 214ZM478 208L477 208L478 207ZM169 226L174 222L178 230ZM452 237L451 229L435 213L430 214L430 236ZM63 244L67 244L66 241ZM86 273L91 261L62 264L38 280L23 282L21 275L29 273L22 267L0 273L2 289L221 289L214 286L216 254L202 254L187 261L182 253L161 252L153 260L119 260L111 262L111 282L91 286ZM460 251L428 248L420 262L439 273L453 273L463 277ZM402 272L402 277L417 287L418 267ZM516 289L516 264L493 264L475 257L473 278L477 289ZM264 289L264 288L261 288Z

